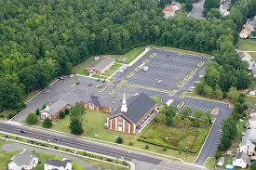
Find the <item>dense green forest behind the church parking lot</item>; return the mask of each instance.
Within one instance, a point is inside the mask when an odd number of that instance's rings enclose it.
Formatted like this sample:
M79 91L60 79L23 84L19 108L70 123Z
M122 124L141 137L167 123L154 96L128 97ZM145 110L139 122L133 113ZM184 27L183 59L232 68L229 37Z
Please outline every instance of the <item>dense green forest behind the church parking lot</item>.
M19 109L26 94L91 55L149 44L216 54L206 79L213 89L249 85L234 45L251 0L236 1L225 19L165 20L163 6L155 0L0 1L0 111Z

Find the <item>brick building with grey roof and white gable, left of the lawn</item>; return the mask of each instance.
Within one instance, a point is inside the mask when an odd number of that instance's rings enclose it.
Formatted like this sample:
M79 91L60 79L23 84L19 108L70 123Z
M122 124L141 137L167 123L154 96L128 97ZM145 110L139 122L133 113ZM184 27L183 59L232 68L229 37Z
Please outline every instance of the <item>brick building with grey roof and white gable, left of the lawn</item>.
M63 99L58 99L51 105L47 105L45 109L40 111L40 118L45 120L46 118L50 120L55 120L59 118L60 111L65 111L65 109L71 109L72 105L68 104L67 101Z

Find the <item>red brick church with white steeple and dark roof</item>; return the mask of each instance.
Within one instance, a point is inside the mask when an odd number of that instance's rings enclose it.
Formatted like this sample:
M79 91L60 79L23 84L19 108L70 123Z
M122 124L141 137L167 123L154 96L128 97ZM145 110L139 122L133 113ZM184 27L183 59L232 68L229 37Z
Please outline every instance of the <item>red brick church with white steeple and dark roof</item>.
M105 126L110 130L128 134L140 133L155 117L157 107L152 98L141 93L126 100L122 100L122 106L110 114L106 119Z

